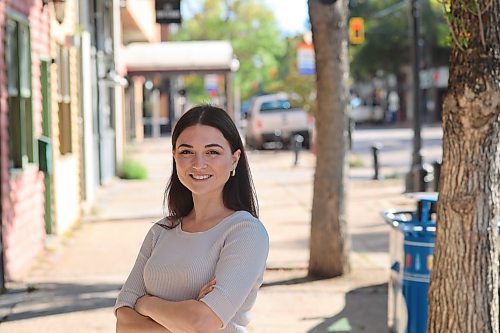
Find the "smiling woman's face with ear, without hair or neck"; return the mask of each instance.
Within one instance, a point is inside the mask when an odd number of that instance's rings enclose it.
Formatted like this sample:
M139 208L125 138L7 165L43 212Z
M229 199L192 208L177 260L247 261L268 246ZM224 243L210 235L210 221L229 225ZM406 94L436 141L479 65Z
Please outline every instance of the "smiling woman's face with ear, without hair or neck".
M231 153L231 146L215 127L187 127L177 138L174 159L177 176L193 195L222 195L222 190L236 168L241 151Z

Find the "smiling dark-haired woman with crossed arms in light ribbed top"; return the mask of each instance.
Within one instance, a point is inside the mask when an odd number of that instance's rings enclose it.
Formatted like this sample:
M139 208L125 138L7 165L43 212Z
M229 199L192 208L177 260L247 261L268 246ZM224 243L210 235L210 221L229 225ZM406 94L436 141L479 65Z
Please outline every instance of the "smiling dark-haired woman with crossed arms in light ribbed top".
M247 332L269 238L238 130L224 110L197 106L177 122L172 152L169 216L118 295L117 332Z

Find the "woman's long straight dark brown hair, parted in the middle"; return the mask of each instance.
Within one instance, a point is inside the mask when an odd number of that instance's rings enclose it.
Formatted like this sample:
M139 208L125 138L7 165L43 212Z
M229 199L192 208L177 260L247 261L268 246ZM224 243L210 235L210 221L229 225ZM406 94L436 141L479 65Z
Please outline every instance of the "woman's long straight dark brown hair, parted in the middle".
M179 135L188 127L195 125L206 125L218 129L231 146L231 153L241 151L240 159L236 166L236 175L229 177L224 185L222 200L224 205L232 210L246 210L258 217L258 203L255 188L248 166L245 147L241 141L240 134L231 117L223 109L209 105L199 105L184 113L175 125L172 133L172 152L175 153ZM163 206L167 214L167 220L171 227L175 227L180 218L186 216L193 209L193 196L191 191L185 187L177 176L175 159L172 164L172 175L165 189ZM167 206L167 207L165 207Z

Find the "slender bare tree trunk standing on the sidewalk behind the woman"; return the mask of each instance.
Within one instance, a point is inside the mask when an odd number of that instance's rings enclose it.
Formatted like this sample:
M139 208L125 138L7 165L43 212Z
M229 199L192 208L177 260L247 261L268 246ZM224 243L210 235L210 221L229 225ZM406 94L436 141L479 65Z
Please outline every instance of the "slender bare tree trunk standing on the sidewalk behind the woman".
M344 203L347 14L347 0L337 0L331 5L309 0L318 103L309 275L316 277L340 276L350 267Z

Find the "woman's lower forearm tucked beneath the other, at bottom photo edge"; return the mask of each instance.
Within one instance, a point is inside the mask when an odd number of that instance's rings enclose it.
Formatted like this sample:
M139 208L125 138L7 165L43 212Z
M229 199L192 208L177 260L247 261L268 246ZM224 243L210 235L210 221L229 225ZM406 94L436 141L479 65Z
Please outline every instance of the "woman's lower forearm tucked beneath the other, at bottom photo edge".
M129 307L116 310L116 333L172 333L149 317L137 313Z

